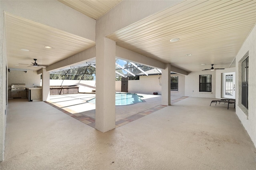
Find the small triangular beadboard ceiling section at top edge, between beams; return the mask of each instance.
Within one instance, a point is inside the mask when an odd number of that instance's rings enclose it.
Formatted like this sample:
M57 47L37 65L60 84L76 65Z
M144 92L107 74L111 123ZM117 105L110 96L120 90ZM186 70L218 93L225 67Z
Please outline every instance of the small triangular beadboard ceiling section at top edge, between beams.
M122 0L58 0L83 14L98 19Z

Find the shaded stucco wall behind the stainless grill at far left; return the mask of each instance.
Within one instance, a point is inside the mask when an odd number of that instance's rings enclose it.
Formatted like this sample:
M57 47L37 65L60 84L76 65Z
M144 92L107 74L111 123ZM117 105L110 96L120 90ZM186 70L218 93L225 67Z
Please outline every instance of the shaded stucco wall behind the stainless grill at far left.
M37 74L37 71L14 71L8 72L8 87L11 87L12 83L24 83L26 86L41 85L41 75Z

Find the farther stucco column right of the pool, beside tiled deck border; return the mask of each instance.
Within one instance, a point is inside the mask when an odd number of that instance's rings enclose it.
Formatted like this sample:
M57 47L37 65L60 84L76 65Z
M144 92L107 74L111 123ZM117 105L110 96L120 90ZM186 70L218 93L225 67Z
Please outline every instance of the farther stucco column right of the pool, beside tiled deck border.
M171 65L165 64L162 69L162 105L171 105Z

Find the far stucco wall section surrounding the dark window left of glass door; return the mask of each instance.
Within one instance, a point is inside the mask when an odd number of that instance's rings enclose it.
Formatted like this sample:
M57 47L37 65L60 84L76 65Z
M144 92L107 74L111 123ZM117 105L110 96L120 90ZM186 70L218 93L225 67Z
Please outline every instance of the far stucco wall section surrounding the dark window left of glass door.
M199 75L212 75L212 92L199 92ZM195 71L185 76L185 96L215 98L215 71Z

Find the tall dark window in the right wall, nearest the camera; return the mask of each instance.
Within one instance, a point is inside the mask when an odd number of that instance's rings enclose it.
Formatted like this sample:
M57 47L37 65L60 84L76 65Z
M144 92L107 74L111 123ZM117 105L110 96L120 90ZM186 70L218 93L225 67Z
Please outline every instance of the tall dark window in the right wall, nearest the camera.
M242 105L248 109L249 57L242 61Z

